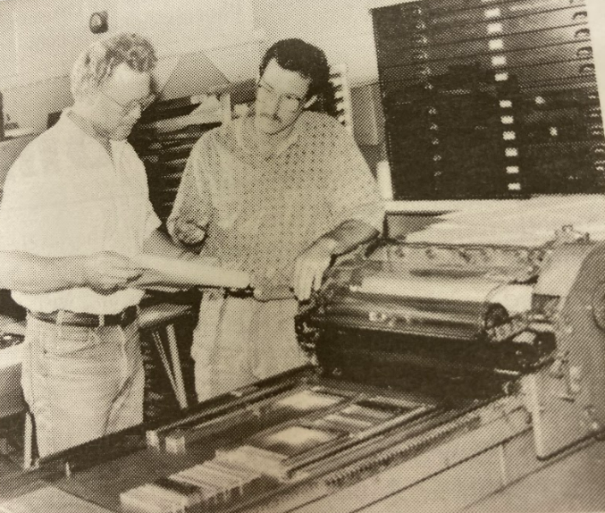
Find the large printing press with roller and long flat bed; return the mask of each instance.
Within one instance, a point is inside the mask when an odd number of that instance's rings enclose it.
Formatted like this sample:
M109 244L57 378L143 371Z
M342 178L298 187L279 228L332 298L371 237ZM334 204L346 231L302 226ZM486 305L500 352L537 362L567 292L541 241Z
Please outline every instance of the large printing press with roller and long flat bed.
M361 248L299 310L313 366L33 475L132 513L420 510L447 489L445 510L469 483L499 490L605 425L605 245L559 235Z

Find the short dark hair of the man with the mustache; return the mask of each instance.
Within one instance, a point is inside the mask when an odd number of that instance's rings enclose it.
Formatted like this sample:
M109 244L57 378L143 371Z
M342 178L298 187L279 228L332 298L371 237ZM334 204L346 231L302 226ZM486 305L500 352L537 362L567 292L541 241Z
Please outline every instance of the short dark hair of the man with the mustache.
M336 97L330 81L330 66L322 49L302 39L281 39L265 52L260 65L261 77L272 59L284 70L296 71L311 80L307 98L316 96L317 100L308 110L336 117Z

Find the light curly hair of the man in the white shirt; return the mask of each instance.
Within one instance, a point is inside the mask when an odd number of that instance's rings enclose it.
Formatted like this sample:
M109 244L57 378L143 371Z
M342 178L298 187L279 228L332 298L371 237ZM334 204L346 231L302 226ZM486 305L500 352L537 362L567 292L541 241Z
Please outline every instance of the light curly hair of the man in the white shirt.
M71 94L74 98L93 94L122 63L133 71L152 71L157 63L154 47L138 34L119 34L96 41L71 68Z

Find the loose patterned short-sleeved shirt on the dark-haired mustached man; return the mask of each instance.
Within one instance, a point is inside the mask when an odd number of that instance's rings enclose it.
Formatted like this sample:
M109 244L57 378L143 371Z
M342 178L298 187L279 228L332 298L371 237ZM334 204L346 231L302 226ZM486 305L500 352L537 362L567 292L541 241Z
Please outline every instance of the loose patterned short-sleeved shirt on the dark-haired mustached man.
M381 231L382 202L347 130L303 113L290 137L263 156L253 118L208 131L191 151L168 228L182 216L206 226L202 255L290 283L298 254L345 221Z

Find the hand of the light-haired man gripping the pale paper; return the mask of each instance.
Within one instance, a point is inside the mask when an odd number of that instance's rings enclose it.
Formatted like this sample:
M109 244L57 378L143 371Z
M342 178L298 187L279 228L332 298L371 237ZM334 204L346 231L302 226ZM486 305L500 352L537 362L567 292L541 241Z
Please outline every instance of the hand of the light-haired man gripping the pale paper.
M84 286L104 295L128 288L130 282L143 273L143 269L130 258L113 251L102 251L87 256L84 259L83 271Z

